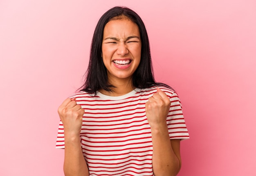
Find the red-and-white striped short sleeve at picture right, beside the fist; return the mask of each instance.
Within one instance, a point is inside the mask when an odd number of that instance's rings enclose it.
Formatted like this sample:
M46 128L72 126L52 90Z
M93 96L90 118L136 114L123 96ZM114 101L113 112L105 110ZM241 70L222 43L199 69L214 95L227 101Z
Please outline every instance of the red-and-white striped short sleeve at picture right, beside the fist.
M170 98L171 106L166 118L170 139L188 139L189 132L182 113L180 98L174 92Z

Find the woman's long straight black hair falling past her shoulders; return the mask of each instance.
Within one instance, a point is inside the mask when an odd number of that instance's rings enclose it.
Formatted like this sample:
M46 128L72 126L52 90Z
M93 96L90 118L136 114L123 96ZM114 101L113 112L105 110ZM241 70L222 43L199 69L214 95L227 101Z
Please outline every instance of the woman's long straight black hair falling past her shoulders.
M111 91L111 88L114 87L113 85L108 84L107 69L101 57L103 31L109 21L123 18L128 18L139 27L141 37L141 60L139 66L132 75L132 86L143 89L153 85L162 85L172 89L164 83L155 82L148 33L139 15L127 7L113 7L101 16L95 28L91 44L90 61L85 73L85 82L80 87L81 91L97 94L99 89Z

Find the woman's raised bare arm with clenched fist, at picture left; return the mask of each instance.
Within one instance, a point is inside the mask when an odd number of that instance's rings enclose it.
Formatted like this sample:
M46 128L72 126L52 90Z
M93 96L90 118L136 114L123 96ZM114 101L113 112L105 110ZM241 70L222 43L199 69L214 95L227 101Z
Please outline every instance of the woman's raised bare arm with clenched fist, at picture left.
M75 99L67 98L58 108L58 114L63 123L65 136L64 174L89 176L80 142L84 109L76 104Z

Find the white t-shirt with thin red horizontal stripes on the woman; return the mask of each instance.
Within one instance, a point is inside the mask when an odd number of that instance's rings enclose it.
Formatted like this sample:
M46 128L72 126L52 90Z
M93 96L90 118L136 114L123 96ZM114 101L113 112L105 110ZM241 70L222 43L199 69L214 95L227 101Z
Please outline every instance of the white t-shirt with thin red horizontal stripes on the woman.
M173 90L160 89L171 101L166 119L170 139L189 138L179 97ZM85 110L80 137L90 176L154 176L145 103L156 92L156 87L135 89L123 96L81 91L70 97ZM61 122L56 148L65 148Z

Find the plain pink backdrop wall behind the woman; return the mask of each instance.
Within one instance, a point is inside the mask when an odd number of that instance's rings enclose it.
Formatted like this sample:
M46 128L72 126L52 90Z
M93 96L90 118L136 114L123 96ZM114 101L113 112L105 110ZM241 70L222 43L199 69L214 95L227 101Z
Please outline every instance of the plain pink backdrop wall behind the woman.
M155 77L182 100L179 176L255 176L255 0L0 0L0 176L64 175L57 108L116 5L144 20Z

